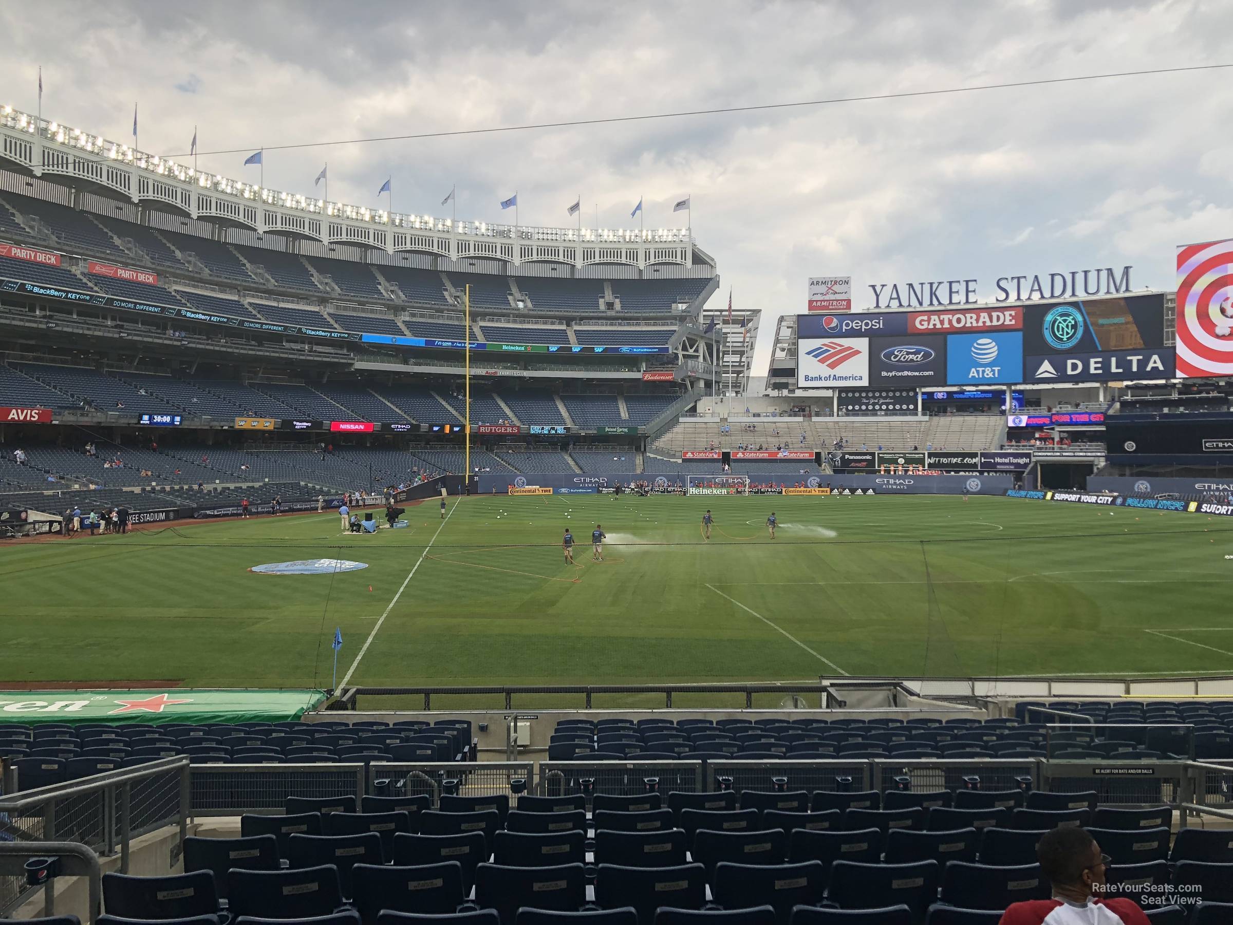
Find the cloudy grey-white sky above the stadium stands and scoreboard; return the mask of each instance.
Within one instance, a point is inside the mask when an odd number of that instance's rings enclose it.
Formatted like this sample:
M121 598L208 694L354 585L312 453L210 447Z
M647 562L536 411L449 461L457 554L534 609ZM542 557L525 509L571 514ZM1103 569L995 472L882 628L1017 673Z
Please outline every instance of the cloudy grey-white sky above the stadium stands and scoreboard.
M894 94L1233 62L1227 0L0 4L2 102L202 152ZM524 224L683 224L726 300L803 311L806 278L869 284L1133 264L1233 234L1233 69L269 152L266 186ZM243 154L203 169L256 180ZM245 173L247 171L247 173ZM773 323L763 322L764 358ZM762 370L757 370L761 372Z

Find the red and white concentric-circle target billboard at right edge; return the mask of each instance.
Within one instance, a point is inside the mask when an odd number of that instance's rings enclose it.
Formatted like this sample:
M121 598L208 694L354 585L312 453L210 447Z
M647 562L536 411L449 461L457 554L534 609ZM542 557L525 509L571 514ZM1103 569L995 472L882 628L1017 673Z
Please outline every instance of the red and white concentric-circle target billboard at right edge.
M1233 239L1178 248L1178 377L1233 376Z

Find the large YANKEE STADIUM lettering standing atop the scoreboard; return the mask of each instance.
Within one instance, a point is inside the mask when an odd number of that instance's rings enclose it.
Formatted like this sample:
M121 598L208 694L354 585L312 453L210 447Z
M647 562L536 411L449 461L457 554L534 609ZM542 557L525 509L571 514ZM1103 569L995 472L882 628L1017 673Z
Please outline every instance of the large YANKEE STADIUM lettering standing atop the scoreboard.
M1034 274L1031 276L999 276L995 302L1020 302L1032 298L1083 298L1084 296L1112 296L1131 291L1131 266L1121 274L1112 266L1095 270L1067 270L1064 273ZM975 305L979 280L933 280L930 282L891 282L869 286L873 307L877 308L937 308L952 305Z

